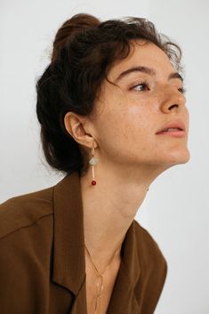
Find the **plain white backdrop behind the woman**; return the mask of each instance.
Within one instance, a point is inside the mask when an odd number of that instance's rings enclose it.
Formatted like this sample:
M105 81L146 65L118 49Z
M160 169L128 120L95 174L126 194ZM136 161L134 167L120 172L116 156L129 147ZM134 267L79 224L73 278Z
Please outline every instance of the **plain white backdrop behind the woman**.
M208 0L129 0L124 4L118 0L1 0L0 203L52 186L61 178L45 165L42 155L35 84L49 61L55 31L78 12L101 20L146 17L181 44L191 159L157 178L136 219L156 239L168 262L155 313L208 314Z

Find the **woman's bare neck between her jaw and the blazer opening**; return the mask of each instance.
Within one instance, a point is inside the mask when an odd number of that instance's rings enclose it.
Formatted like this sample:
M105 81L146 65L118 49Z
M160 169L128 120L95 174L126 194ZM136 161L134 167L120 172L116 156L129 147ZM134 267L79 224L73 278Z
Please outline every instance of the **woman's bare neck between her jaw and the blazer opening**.
M125 168L125 167L124 167ZM84 239L95 264L105 267L125 238L150 183L162 169L106 169L95 166L97 184L91 186L92 167L81 176ZM109 171L107 171L107 169Z

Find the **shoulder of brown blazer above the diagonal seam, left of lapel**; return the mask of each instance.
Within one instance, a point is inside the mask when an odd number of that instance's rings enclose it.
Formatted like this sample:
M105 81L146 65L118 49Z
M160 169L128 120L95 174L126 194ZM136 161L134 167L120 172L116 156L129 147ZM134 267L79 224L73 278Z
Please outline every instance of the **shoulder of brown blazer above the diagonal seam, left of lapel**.
M0 238L53 213L53 187L12 197L0 205Z

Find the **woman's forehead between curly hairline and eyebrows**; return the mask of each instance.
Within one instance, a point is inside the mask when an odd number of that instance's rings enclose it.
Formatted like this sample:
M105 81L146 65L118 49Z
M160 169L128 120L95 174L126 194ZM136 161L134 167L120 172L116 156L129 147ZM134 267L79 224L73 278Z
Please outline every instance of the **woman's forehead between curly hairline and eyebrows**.
M159 75L165 76L174 69L166 53L156 44L138 40L131 43L129 55L123 60L117 60L109 69L109 79L114 81L120 72L138 66L154 68Z

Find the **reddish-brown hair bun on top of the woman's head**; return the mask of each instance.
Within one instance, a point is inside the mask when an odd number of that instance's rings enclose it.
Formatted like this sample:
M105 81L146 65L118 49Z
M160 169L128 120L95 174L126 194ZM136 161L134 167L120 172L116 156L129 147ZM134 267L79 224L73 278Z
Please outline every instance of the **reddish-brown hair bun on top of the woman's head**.
M67 44L71 36L75 35L75 32L82 31L86 28L92 28L98 26L100 20L92 16L91 14L79 13L74 15L71 19L66 20L62 26L58 29L53 41L52 61L56 60L61 48Z

